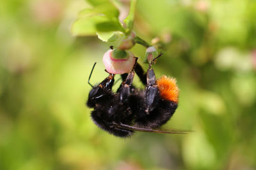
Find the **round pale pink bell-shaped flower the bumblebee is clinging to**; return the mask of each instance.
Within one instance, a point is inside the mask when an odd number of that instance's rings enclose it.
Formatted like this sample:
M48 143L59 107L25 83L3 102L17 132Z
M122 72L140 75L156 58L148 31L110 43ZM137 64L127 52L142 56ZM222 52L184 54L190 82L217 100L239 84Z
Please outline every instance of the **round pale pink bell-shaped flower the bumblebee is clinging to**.
M108 50L103 55L103 63L106 67L108 73L112 74L124 74L129 73L132 70L132 67L135 63L134 54L130 51L127 51L127 58L125 59L116 59L113 57L114 50Z

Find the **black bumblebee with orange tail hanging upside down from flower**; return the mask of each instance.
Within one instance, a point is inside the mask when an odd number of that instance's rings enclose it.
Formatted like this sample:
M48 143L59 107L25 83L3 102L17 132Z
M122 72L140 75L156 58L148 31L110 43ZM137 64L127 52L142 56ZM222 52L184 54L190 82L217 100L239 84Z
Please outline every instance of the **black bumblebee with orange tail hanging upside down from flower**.
M109 73L109 76L95 87L90 84L89 77L88 83L93 89L86 104L94 109L91 117L98 127L121 138L131 136L134 131L185 133L156 130L170 120L179 99L179 89L174 78L162 76L156 80L152 64L161 55L163 53L150 62L147 73L144 73L136 58L132 71L122 74L123 83L116 93L112 91L115 74ZM146 85L145 90L136 89L132 85L135 73Z

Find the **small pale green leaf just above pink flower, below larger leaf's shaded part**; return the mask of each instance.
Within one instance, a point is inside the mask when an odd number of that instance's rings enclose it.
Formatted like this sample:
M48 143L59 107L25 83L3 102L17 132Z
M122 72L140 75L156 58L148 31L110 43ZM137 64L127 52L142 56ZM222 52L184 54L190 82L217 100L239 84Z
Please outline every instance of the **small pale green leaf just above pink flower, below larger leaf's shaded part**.
M113 32L96 32L99 39L105 42L114 42L120 39L124 34L122 32L113 31Z

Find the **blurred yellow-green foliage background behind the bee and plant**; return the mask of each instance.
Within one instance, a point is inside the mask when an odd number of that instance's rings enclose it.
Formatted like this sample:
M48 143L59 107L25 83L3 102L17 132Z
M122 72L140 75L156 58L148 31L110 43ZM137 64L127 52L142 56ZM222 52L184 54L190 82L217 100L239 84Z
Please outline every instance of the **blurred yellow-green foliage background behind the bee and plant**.
M138 0L134 31L166 41L154 70L180 87L179 108L163 128L194 132L129 139L96 127L84 104L93 63L93 84L108 76L109 44L70 33L88 6L1 1L1 170L256 169L256 1ZM132 51L145 55L140 45Z

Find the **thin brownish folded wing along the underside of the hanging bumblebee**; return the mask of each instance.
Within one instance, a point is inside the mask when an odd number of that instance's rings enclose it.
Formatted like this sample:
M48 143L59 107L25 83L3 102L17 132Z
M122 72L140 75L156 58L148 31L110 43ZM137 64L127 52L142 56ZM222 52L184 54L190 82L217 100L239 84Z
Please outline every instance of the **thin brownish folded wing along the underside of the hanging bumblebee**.
M154 132L154 133L160 133L160 134L187 134L190 131L161 131L157 129L146 129L141 127L134 127L131 125L125 125L125 124L116 124L116 127L120 129L127 129L132 131L139 131L139 132Z

